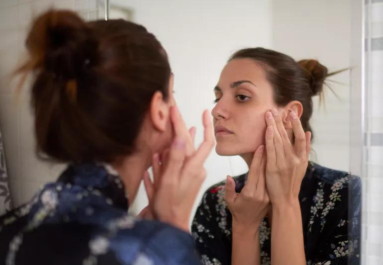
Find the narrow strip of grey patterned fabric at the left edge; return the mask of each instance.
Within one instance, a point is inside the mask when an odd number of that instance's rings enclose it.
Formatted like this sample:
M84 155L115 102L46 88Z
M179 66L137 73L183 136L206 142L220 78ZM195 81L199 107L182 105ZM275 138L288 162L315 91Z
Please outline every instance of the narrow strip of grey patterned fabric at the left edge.
M8 174L6 172L2 136L0 132L0 215L11 208Z

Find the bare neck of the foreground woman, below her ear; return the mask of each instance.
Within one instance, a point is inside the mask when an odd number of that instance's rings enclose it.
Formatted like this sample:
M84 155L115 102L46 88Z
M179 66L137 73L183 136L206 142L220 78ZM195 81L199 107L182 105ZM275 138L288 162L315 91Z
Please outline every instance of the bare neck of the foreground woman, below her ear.
M112 164L124 183L129 204L131 204L136 197L144 172L147 171L151 165L150 158L151 154L146 154L146 152L141 151L135 152Z

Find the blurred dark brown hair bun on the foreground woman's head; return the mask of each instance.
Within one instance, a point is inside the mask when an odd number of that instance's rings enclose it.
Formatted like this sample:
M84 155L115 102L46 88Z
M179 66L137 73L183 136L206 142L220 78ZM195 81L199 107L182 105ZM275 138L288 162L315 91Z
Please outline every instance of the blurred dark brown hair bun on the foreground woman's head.
M70 79L79 74L84 62L95 58L96 38L75 12L51 9L33 22L26 47L30 68Z

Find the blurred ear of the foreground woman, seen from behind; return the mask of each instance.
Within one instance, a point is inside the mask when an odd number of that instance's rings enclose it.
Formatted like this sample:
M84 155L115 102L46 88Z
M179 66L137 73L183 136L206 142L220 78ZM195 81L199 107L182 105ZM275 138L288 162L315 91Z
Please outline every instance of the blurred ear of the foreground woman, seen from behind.
M153 127L160 132L166 130L166 125L169 120L169 104L164 100L164 95L160 91L156 91L153 94L150 102L150 120L152 121Z

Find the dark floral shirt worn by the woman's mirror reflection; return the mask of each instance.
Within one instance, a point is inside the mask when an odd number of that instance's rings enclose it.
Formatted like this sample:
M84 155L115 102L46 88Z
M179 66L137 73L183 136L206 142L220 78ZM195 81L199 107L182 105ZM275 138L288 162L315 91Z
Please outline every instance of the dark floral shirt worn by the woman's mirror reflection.
M235 177L238 192L246 177ZM224 185L222 181L204 193L192 222L204 265L231 264L232 217L224 201ZM307 265L360 264L360 178L310 162L299 201ZM262 265L271 264L271 233L265 217L259 227Z

